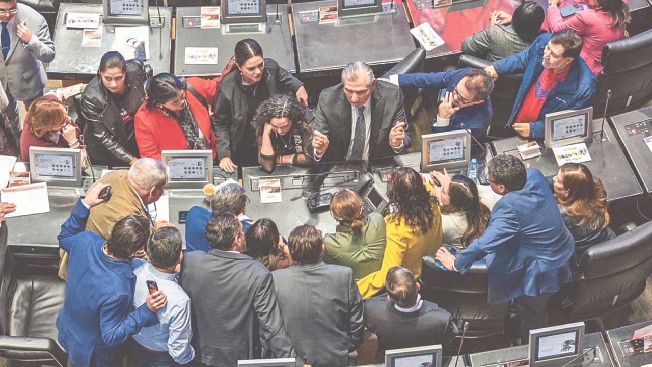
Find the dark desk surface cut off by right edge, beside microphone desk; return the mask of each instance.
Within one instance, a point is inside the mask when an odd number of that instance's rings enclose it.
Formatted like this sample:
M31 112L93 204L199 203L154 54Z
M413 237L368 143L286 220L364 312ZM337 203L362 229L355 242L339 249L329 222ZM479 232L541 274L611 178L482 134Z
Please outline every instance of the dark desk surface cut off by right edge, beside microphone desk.
M625 126L650 119L652 119L652 107L641 108L611 118L616 134L647 194L652 193L652 152L645 145L643 138L651 133L629 136Z

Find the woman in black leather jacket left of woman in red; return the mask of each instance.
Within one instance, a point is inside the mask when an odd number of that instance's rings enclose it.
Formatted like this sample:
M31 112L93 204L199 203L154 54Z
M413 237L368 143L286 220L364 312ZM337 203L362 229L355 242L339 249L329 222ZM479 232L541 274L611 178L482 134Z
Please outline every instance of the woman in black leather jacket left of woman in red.
M115 51L102 56L97 76L83 90L80 108L91 163L126 166L140 157L134 116L145 100L146 82L142 61L125 61Z

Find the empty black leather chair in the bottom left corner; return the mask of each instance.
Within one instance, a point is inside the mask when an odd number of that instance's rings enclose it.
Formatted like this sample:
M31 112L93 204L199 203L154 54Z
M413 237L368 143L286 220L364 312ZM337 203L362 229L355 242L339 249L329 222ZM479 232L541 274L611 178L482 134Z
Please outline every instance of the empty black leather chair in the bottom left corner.
M55 321L66 283L53 275L30 275L16 266L7 246L7 223L0 227L0 358L8 366L67 366L67 354L55 342ZM20 361L20 362L18 362Z

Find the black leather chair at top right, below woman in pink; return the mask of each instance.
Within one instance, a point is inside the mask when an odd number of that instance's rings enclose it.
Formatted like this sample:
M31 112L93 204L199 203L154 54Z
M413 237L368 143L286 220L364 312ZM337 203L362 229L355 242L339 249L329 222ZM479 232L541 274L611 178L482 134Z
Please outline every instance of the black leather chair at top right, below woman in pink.
M602 117L607 91L612 95L607 116L635 110L652 98L652 29L604 45L593 116Z

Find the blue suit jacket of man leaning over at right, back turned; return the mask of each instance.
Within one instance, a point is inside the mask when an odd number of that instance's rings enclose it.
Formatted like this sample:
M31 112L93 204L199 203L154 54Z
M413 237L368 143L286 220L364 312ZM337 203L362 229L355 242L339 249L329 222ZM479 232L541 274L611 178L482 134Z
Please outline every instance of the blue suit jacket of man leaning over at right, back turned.
M546 178L527 168L527 183L498 200L484 234L455 260L464 274L487 258L489 302L556 292L572 280L575 242L564 225Z

